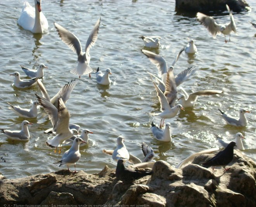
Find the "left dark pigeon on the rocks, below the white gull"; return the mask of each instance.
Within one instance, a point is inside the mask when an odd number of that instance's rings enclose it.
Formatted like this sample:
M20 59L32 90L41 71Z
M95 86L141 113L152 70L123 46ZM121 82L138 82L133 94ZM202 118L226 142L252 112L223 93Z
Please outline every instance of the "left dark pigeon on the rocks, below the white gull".
M133 168L126 168L123 159L118 160L116 166L116 178L123 183L132 183L134 180L142 178L147 175L151 175L151 170L138 170Z

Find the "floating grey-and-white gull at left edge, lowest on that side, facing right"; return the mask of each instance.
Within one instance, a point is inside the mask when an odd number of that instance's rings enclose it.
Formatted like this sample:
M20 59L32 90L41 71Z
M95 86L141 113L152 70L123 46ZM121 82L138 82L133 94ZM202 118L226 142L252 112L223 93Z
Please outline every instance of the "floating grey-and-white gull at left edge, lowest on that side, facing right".
M17 141L28 141L29 131L28 124L32 124L29 121L23 121L21 124L21 131L11 131L7 129L0 129L0 131L7 136L7 138Z

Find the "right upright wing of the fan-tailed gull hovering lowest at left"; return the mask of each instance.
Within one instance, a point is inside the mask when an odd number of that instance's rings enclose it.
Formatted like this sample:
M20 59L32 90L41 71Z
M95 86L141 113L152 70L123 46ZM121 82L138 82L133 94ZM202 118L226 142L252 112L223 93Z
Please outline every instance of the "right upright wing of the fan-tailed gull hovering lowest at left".
M62 98L58 99L58 122L56 134L69 133L69 112Z

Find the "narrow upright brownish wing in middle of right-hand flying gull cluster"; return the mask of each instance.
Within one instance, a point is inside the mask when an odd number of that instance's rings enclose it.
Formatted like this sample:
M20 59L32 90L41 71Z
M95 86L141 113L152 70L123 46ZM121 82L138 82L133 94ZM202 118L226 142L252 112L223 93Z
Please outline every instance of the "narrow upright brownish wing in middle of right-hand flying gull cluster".
M173 75L173 68L170 68L167 72L164 95L166 96L170 107L174 107L177 99L177 87Z

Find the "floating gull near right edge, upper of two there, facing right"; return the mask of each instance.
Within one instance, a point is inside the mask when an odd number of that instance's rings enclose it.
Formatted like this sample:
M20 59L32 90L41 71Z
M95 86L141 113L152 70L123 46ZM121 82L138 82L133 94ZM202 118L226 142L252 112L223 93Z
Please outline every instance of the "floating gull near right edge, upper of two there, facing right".
M225 120L225 122L227 122L227 124L230 124L233 126L242 126L242 127L247 126L247 119L246 119L245 113L250 113L249 111L247 111L245 109L240 109L239 110L239 119L232 117L232 116L228 116L220 109L219 109L219 111L221 112L222 117Z

